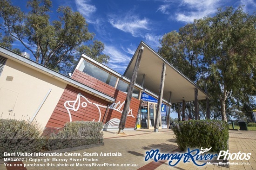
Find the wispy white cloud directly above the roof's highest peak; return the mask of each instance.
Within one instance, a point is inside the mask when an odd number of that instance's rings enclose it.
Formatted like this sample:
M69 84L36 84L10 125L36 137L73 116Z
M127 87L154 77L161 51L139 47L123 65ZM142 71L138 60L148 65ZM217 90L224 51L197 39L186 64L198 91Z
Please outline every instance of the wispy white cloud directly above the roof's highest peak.
M108 22L119 30L131 33L133 37L141 36L141 30L150 30L148 19L140 19L131 14L126 14L125 17L112 16Z

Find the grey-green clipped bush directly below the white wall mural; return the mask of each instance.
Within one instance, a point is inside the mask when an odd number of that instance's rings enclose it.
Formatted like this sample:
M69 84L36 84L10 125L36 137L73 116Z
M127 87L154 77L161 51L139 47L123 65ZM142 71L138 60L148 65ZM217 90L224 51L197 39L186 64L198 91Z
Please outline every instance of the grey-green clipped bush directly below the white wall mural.
M47 147L49 150L56 150L102 143L102 128L103 124L101 122L68 122L57 134L48 139Z

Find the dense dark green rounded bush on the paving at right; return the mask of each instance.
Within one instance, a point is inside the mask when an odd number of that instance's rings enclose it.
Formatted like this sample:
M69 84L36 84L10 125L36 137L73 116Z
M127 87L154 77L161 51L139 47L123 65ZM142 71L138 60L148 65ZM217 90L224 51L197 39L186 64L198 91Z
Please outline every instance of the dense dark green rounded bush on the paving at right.
M219 153L228 149L229 125L218 120L191 120L177 123L173 127L176 142L182 151L187 148L210 148Z

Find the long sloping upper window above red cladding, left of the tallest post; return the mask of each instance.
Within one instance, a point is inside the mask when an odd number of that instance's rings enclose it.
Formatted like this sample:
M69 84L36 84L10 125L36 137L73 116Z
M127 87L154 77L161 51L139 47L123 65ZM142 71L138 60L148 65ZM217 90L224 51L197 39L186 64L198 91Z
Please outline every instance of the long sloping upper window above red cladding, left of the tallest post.
M93 76L94 78L100 80L101 82L105 82L106 84L112 87L115 87L115 83L117 81L117 78L115 76L112 76L108 72L100 69L99 67L95 66L92 63L89 63L88 61L84 60L78 70L90 76Z

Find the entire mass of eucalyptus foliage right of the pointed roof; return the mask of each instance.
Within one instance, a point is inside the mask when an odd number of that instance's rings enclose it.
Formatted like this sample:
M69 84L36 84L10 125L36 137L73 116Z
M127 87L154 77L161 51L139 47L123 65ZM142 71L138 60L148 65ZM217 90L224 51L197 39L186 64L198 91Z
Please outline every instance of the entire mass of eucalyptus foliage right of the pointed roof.
M227 121L230 106L241 110L240 103L248 104L248 96L256 95L255 28L256 15L244 13L243 6L220 8L214 17L164 35L159 53L199 87L207 84L211 110Z

